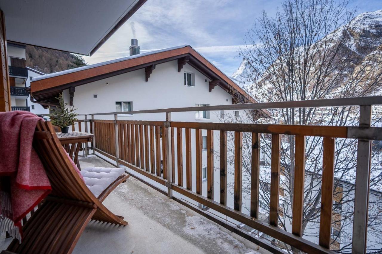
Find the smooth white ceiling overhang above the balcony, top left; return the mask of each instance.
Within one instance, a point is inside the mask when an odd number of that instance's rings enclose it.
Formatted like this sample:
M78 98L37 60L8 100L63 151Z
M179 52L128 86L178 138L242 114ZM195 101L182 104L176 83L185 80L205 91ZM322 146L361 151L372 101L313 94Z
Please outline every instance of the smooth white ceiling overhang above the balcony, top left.
M146 0L0 0L6 39L92 55Z

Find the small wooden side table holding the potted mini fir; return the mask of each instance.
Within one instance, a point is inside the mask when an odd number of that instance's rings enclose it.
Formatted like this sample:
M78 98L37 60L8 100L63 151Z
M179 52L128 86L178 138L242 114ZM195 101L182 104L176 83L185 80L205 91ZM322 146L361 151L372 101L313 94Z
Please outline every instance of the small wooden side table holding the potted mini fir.
M74 164L76 164L78 169L81 170L81 166L78 161L78 152L80 148L82 148L82 143L91 142L94 135L87 132L57 132L56 134L65 151L69 153L70 158L73 158L74 156Z

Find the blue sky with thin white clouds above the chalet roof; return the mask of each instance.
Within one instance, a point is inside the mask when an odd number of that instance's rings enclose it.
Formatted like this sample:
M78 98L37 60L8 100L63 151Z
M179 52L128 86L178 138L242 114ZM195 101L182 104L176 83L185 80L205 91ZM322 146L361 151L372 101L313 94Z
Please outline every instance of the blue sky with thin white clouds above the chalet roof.
M280 0L147 0L92 56L94 64L129 55L131 39L141 52L188 44L230 76L241 63L238 50L247 30L265 10L275 13ZM354 0L359 13L382 9L381 0Z

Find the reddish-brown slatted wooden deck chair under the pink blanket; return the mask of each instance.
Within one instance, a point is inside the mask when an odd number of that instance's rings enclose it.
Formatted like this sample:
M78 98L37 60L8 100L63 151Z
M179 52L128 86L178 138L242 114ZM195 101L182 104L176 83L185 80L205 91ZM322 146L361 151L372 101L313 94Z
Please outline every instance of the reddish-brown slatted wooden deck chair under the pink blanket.
M91 219L127 225L102 201L129 175L122 174L96 197L72 166L50 122L37 124L33 146L44 164L52 192L23 226L22 243L13 240L4 253L71 253Z

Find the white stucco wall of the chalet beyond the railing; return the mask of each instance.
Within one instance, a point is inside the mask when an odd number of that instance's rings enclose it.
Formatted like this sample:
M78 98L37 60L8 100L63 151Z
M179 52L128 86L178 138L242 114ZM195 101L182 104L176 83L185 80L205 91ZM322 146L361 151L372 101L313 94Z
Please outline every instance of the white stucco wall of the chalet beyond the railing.
M184 72L194 73L195 87L184 85ZM206 81L207 80L207 81ZM222 88L216 86L209 92L209 79L186 64L178 72L177 61L157 64L148 82L145 81L144 69L120 74L118 76L80 85L75 88L73 105L77 113L106 113L115 111L116 101L132 101L133 110L192 107L195 104L226 105L232 104L232 96ZM94 95L97 98L94 98ZM65 102L69 102L69 90L64 91ZM233 111L225 111L233 114ZM243 112L240 112L243 114ZM95 119L113 119L114 116L95 116ZM172 121L185 122L220 122L219 111L210 111L209 119L196 120L195 112L172 113ZM83 119L83 117L78 117ZM118 116L120 120L150 120L165 121L165 113L134 114L133 116ZM202 136L207 135L202 130ZM175 135L176 136L176 135ZM193 190L196 190L195 166L195 131L191 130L191 151L193 167ZM175 137L176 143L176 137ZM183 154L185 154L185 134L183 130ZM214 132L214 150L219 151L219 132ZM219 201L219 158L215 156L214 195ZM175 165L177 164L175 155ZM183 158L185 165L185 157ZM207 167L207 153L202 152L202 167ZM186 168L183 167L184 186ZM175 174L177 177L177 173ZM230 181L230 176L228 177ZM203 183L203 195L207 195L207 183ZM228 194L229 196L230 194ZM228 204L233 205L233 199L227 198Z

